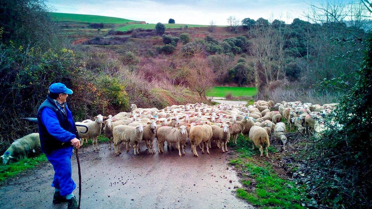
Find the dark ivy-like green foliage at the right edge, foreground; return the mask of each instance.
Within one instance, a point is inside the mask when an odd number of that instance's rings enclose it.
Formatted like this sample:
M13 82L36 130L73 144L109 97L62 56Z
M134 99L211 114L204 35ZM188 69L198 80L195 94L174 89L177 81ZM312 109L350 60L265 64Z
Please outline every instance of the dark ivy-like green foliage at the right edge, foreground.
M341 98L335 123L309 156L321 154L311 165L314 175L321 174L312 184L319 187L313 198L331 208L372 208L372 38L366 42L356 84Z

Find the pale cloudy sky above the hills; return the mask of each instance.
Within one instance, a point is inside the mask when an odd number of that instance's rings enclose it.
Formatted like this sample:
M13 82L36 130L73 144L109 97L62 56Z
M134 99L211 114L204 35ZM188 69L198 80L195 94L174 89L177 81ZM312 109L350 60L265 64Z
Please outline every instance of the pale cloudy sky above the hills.
M227 25L229 16L239 20L263 17L270 22L280 19L286 23L294 18L307 20L304 12L311 2L314 0L49 0L48 4L55 12L120 17L146 23L168 23L172 18L176 23L209 25L213 20L216 25Z

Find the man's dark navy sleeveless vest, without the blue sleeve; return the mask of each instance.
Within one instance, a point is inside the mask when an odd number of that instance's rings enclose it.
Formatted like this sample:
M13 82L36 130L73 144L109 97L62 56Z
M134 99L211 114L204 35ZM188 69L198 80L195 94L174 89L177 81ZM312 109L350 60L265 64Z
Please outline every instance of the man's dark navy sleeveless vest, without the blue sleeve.
M55 115L57 115L57 119L60 122L61 127L66 131L75 134L76 138L78 138L76 127L71 126L70 122L68 121L68 117L64 115L64 113L62 113L60 109L58 109L57 105L54 103L54 100L47 96L47 99L40 105L37 113L41 151L44 152L45 154L48 154L49 152L56 149L60 149L63 147L71 147L72 145L70 142L62 144L62 142L58 141L52 135L49 134L47 128L41 122L41 110L44 108L50 108L51 110L53 110ZM67 115L70 114L67 110L66 112ZM73 121L73 123L75 122Z

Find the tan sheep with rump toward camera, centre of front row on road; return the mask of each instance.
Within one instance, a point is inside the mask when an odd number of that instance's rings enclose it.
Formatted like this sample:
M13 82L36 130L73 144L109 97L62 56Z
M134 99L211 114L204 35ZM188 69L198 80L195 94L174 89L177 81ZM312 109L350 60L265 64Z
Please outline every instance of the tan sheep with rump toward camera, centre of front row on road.
M196 146L202 143L202 153L204 153L204 144L207 147L207 153L209 154L208 144L213 136L212 127L206 123L203 125L195 125L190 128L190 143L194 156L199 157L196 152Z

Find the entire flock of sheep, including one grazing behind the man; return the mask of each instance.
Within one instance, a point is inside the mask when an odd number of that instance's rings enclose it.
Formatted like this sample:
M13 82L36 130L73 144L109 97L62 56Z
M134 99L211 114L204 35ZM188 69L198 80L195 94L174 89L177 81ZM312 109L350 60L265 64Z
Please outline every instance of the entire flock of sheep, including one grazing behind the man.
M167 147L177 148L179 156L185 155L184 148L190 142L194 156L199 157L196 147L204 147L209 154L211 141L215 141L222 152L227 151L227 142L230 140L236 144L239 134L249 136L254 147L260 150L263 156L263 147L266 150L270 145L269 136L274 134L276 139L283 143L283 149L287 138L286 124L290 129L297 128L300 132L320 133L325 127L322 118L329 115L337 106L334 104L312 105L301 102L257 101L254 105L234 105L221 103L216 106L206 104L173 105L164 109L138 108L131 105L131 112L121 112L108 117L97 115L94 120L76 122L88 127L88 131L80 134L83 144L87 138L92 140L93 151L99 150L97 136L101 135L102 126L104 134L109 139L109 149L113 148L115 154L121 154L121 144L134 149L134 155L138 154L141 141L145 142L149 154L155 154L154 139L157 151L163 153L164 142ZM106 120L104 120L106 119ZM285 123L281 122L282 119ZM85 128L77 126L78 131L84 132ZM36 136L37 135L37 136ZM38 134L30 134L17 139L10 145L4 155L3 163L13 156L26 155L27 152L40 147ZM182 150L182 154L181 154ZM13 155L13 156L12 156Z

